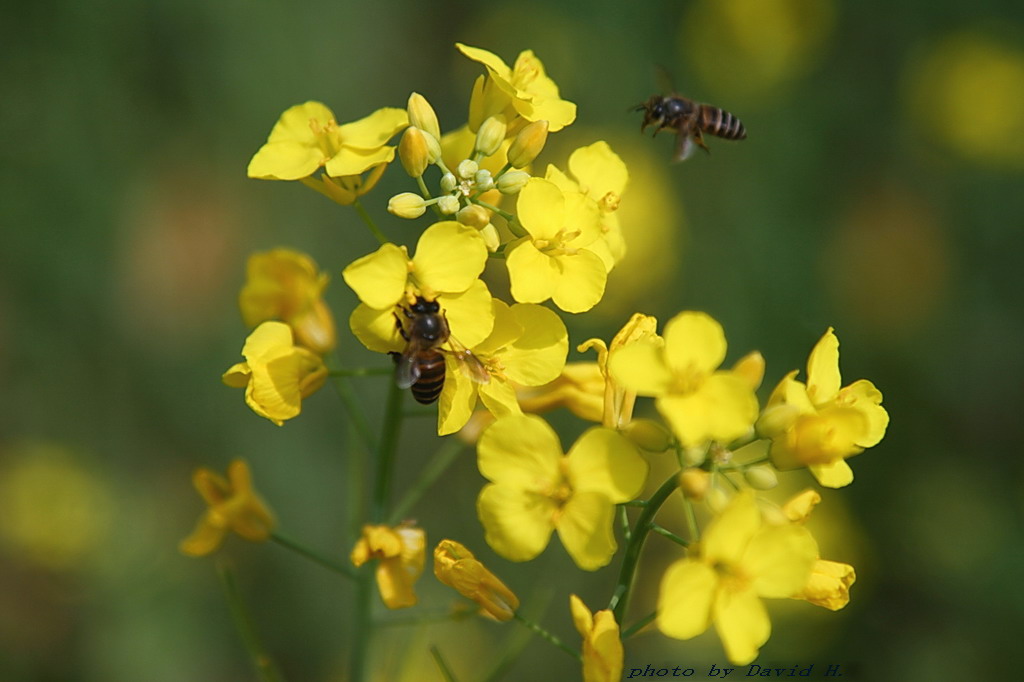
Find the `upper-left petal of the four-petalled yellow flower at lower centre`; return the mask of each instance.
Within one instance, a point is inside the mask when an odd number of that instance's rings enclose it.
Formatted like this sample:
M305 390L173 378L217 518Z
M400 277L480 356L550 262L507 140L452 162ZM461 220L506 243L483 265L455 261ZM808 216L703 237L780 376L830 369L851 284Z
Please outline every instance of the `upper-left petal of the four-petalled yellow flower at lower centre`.
M480 435L476 447L480 474L496 483L542 492L561 480L558 434L537 415L499 419Z

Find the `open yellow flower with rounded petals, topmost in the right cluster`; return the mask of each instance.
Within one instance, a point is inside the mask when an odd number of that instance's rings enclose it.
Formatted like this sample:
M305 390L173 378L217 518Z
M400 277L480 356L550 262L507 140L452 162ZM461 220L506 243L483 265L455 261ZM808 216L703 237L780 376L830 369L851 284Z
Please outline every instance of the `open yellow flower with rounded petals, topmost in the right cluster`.
M665 327L665 341L638 342L612 352L611 376L655 406L687 447L745 435L758 416L746 374L718 370L725 357L721 325L703 312L681 312Z

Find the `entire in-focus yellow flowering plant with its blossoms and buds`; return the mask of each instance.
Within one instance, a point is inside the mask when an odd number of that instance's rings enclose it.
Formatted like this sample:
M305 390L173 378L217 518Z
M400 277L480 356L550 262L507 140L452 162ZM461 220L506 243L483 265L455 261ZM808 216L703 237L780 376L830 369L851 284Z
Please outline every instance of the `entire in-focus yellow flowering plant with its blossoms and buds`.
M575 105L528 50L509 67L486 50L457 48L483 70L465 125L442 131L416 92L404 109L341 125L325 104L309 101L285 112L249 164L251 177L299 180L353 206L379 243L353 254L341 274L359 300L348 315L355 339L396 363L393 399L379 441L365 438L378 458L377 478L367 518L353 525L362 530L351 565L317 560L362 585L370 576L364 565L374 561L388 608L418 602L426 531L409 521L384 522L400 390L412 388L421 402L436 400L438 435L460 432L475 443L486 481L476 513L500 557L529 561L557 535L579 568L599 570L618 553L616 515L625 524L607 608L594 613L570 597L586 680L621 679L623 640L648 623L678 639L714 625L728 658L750 663L771 633L763 599L836 610L849 601L855 579L852 566L820 558L805 525L818 493L782 505L764 493L778 472L799 468L824 487L851 483L847 460L878 444L888 426L882 394L866 380L843 385L839 340L829 328L810 353L806 382L791 372L762 407L764 357L753 351L727 364L722 326L693 310L679 312L660 332L655 317L636 312L610 342L575 346L595 351L595 359L567 363L563 313L597 305L608 273L627 254L616 209L629 201L629 171L603 140L572 152L562 168L535 169L549 134L575 119ZM416 190L391 197L387 211L404 220L431 212L413 248L389 241L361 204L396 154ZM493 293L496 268L504 268L508 296ZM324 300L328 283L305 254L279 248L250 258L240 307L253 331L245 361L223 381L245 388L249 407L278 425L298 416L329 375L325 356L338 340ZM653 398L651 417L634 417L645 408L642 398ZM539 414L559 407L596 422L580 429L567 452ZM346 409L353 423L365 424L360 406ZM673 473L649 485L655 463ZM229 482L201 470L196 484L209 511L182 551L209 553L226 529L248 540L269 537L272 520L245 465L231 465ZM655 522L677 492L687 510L681 531ZM629 507L639 512L631 517ZM709 519L702 528L698 517ZM655 611L621 631L632 615L631 591L652 530L675 542L681 556L660 576L647 577L659 585ZM433 556L435 576L481 612L523 621L514 592L466 547L442 540Z

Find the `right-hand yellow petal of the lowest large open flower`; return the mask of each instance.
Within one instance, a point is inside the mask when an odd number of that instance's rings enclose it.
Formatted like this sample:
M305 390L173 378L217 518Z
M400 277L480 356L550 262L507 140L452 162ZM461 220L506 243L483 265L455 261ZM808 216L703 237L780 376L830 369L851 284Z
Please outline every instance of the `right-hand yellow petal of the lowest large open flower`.
M818 545L802 525L764 526L739 559L752 587L762 597L792 596L806 583Z

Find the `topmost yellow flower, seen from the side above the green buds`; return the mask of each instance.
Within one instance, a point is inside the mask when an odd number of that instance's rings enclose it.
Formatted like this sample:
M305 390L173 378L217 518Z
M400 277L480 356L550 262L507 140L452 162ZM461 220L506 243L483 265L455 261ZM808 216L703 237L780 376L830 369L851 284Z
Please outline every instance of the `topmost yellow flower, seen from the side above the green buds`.
M547 121L556 132L575 120L575 104L561 99L558 86L544 73L544 65L532 50L523 50L508 65L498 55L478 47L456 43L460 52L487 69L486 78L477 80L470 102L469 125L476 130L487 117L506 114L511 122L515 114L526 121ZM513 111L508 112L509 108Z

